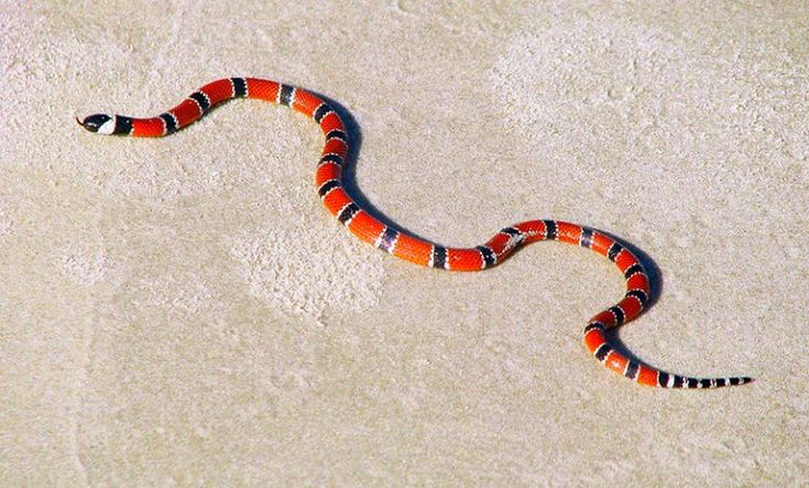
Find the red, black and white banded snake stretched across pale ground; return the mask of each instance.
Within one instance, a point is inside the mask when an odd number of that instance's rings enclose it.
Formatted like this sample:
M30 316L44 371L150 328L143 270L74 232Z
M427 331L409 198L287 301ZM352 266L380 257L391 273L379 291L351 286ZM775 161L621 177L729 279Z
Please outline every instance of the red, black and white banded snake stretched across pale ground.
M261 78L233 77L211 82L157 117L133 118L94 113L76 121L90 132L136 138L160 138L176 132L231 99L255 98L283 105L320 127L325 138L315 172L315 186L326 209L351 234L382 251L423 267L447 271L482 271L503 262L528 243L555 240L590 249L620 270L626 293L615 305L595 314L584 326L583 343L608 369L635 382L656 388L707 389L740 386L750 377L693 378L654 368L619 350L608 330L636 318L649 305L651 280L641 260L605 232L562 220L538 219L507 226L481 246L453 248L425 240L383 223L354 199L343 183L350 134L342 117L325 97L292 85Z

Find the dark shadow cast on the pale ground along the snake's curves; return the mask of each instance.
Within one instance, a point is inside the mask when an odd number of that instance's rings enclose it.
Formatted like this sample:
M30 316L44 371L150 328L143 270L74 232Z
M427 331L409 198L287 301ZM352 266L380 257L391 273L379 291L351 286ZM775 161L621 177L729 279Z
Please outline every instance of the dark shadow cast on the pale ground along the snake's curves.
M331 108L340 116L340 118L342 118L342 121L346 124L346 132L349 138L349 154L346 161L347 164L343 169L343 181L342 181L343 187L349 192L349 194L354 198L354 200L357 200L357 203L363 209L365 209L369 214L373 215L373 217L379 219L382 224L391 228L394 228L398 231L404 231L412 236L415 236L420 239L433 242L433 239L420 236L418 232L414 231L413 229L408 229L406 227L403 227L396 224L393 219L391 219L387 215L385 215L384 212L380 210L379 207L376 207L372 202L370 202L365 197L365 195L362 193L360 187L357 185L357 160L360 154L360 150L362 149L362 129L360 128L359 123L357 123L357 119L354 119L351 112L346 107L343 107L339 101L321 93L317 93L317 91L313 91L313 93L317 95L318 97L320 97L321 99L324 99L327 104L329 104ZM649 279L649 296L648 296L646 307L643 311L643 313L646 314L657 303L657 301L659 300L663 293L664 280L663 280L663 273L660 272L659 267L655 263L652 257L649 257L646 252L644 252L637 246L633 245L632 242L628 242L626 239L615 236L612 232L601 230L601 229L593 229L593 230L597 230L598 232L601 232L604 236L608 236L611 239L614 239L615 241L620 242L622 246L627 248L630 251L632 251L632 253L635 254L635 257L637 257L637 259L641 261L643 267L646 269L646 274L648 275L648 279ZM610 344L613 346L615 350L623 354L628 359L635 362L648 365L647 361L644 361L643 359L638 358L635 354L633 354L626 347L623 340L621 340L621 329L623 327L614 327L606 332L608 340L610 340Z

